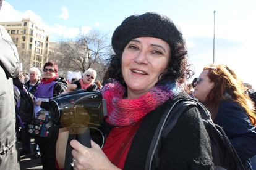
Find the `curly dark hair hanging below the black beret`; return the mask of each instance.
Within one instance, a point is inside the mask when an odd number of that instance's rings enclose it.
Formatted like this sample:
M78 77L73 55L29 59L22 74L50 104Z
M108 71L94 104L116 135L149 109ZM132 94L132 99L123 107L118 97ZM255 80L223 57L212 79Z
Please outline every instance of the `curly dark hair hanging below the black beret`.
M166 81L177 81L178 83L184 83L184 81L190 76L192 76L192 71L189 69L189 65L187 62L187 49L185 42L182 40L183 43L180 43L181 40L177 40L179 43L176 44L171 48L171 56L166 67L166 70L161 74L161 78L159 79L158 83L164 83ZM110 58L110 63L108 70L105 73L103 78L103 84L108 83L109 79L116 79L119 81L123 86L126 86L124 82L124 78L122 77L122 69L121 69L121 60L122 54L115 54L112 55Z

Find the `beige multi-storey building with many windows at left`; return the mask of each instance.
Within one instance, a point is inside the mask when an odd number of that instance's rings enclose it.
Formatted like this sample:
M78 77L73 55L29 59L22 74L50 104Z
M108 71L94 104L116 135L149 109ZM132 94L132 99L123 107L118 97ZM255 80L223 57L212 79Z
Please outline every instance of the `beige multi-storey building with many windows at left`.
M41 69L48 61L49 34L30 18L23 18L20 22L0 22L0 25L6 28L17 46L23 71L27 72L31 67Z

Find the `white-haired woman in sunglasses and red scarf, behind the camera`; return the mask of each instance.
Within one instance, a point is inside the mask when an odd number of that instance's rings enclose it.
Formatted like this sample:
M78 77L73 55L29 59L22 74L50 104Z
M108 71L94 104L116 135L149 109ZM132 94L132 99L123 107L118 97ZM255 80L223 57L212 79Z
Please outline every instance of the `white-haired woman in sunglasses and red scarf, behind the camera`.
M86 89L88 92L96 91L97 85L94 83L97 73L92 68L85 70L81 79L69 84L67 91L74 91L75 89Z

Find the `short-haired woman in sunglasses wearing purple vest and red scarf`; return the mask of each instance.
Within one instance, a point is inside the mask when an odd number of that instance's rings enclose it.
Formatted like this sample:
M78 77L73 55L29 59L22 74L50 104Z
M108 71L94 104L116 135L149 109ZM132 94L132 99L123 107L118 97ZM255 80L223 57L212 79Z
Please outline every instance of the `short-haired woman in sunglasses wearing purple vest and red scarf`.
M43 79L35 91L35 108L41 108L40 111L35 111L35 116L45 118L49 115L49 99L56 97L67 91L66 82L59 78L57 73L58 67L52 62L45 63L43 66ZM36 109L34 109L36 110ZM39 109L38 109L39 110ZM41 127L43 131L43 126ZM51 128L49 136L36 136L38 141L41 162L43 169L55 169L55 148L58 138L58 129Z

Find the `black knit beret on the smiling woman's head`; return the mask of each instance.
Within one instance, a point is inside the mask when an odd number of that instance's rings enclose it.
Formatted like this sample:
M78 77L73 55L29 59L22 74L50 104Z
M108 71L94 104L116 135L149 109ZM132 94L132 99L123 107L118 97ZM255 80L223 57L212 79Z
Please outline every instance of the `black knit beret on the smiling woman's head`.
M155 37L166 41L170 48L184 43L179 31L171 19L155 12L131 15L116 28L112 36L112 46L116 54L122 54L126 44L137 37Z

